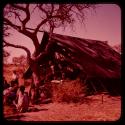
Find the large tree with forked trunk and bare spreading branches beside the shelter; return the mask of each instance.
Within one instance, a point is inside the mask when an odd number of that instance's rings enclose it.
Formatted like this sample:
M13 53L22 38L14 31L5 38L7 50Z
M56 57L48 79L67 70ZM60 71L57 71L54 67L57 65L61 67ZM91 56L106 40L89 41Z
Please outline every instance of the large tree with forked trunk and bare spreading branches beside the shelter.
M4 46L21 48L27 53L27 63L33 71L34 83L39 86L40 75L38 60L48 54L48 46L43 46L43 51L39 51L39 40L37 33L42 29L49 28L50 38L55 28L72 25L76 20L84 23L85 10L95 9L95 5L90 4L7 4L4 8L4 33L8 35L8 28L13 28L19 33L29 37L35 47L35 52L31 56L28 48L21 45L14 45L5 40ZM35 28L29 27L29 22L33 14L39 14L40 20ZM17 22L17 23L15 23ZM31 22L32 23L32 22Z

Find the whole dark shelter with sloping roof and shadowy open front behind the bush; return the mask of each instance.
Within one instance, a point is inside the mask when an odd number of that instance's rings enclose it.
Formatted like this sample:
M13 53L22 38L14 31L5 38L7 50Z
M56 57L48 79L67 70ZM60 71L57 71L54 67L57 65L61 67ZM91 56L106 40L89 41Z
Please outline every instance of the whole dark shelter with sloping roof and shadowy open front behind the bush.
M83 39L44 32L39 51L41 81L52 80L49 67L54 66L55 79L80 77L90 88L120 93L121 56L106 41ZM32 74L30 67L24 78ZM93 85L90 85L93 84Z

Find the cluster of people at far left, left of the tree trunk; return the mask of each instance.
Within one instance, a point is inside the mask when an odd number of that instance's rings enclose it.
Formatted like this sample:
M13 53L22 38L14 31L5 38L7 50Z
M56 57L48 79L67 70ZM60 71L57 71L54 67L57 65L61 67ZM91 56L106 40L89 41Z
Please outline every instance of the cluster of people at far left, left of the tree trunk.
M25 86L18 85L18 75L16 71L13 71L12 81L7 83L5 77L3 77L3 104L14 105L19 112L26 112L29 106L28 93L25 92Z

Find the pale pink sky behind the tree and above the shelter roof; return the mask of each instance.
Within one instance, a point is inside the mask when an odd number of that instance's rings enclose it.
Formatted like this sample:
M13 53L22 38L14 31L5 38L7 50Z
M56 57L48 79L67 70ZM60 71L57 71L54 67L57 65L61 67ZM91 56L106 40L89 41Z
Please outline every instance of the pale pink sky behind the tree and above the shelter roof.
M84 25L76 22L74 30L70 27L66 27L65 31L62 28L55 29L54 32L62 35L69 35L79 38L87 38L100 41L108 41L111 46L121 44L121 9L116 4L99 4L95 11L87 11ZM36 23L37 17L34 16L31 25ZM34 51L34 46L30 38L18 33L15 30L11 30L10 37L6 38L8 42L25 45ZM39 41L42 40L42 33L38 33ZM25 51L21 49L15 49L7 47L7 50L11 56L8 62L11 62L13 57L25 55Z

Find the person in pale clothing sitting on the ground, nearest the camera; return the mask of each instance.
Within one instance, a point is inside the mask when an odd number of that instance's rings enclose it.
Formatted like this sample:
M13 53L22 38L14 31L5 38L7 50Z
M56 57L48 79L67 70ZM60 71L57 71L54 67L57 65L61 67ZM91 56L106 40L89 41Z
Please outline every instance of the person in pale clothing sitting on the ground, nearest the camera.
M28 93L24 91L25 87L20 86L19 91L17 92L17 104L14 102L19 112L26 112L29 106Z

